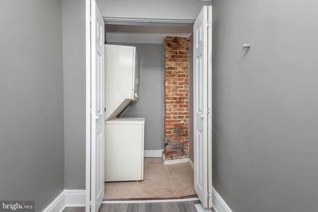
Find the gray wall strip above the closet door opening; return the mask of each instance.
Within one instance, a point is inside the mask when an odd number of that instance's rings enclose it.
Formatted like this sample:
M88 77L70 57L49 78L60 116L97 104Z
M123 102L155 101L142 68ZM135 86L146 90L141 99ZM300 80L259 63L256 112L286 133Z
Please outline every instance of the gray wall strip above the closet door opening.
M196 19L201 0L96 0L103 17Z

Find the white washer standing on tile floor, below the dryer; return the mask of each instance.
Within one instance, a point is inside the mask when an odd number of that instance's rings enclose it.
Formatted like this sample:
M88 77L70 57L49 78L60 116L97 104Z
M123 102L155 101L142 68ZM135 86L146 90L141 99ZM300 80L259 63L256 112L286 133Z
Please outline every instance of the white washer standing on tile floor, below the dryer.
M105 181L144 179L144 118L105 121Z

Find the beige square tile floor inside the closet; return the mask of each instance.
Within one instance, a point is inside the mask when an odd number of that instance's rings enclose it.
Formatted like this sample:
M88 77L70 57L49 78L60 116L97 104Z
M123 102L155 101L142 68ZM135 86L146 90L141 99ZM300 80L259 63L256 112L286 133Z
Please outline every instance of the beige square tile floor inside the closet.
M164 165L162 158L145 157L144 180L105 183L105 200L169 199L196 195L190 163Z

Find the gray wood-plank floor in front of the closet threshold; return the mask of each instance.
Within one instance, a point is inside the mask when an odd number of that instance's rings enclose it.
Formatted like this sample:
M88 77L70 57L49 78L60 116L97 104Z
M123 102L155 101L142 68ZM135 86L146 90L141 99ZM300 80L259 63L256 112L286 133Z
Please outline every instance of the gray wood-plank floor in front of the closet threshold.
M129 203L102 204L99 212L197 212L195 204L200 201L175 203ZM85 212L84 207L66 208L63 212Z

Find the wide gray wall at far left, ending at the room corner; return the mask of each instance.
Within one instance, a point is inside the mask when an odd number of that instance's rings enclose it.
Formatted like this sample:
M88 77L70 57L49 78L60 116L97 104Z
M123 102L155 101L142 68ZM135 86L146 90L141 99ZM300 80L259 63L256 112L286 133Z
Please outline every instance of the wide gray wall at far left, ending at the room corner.
M61 0L0 1L0 200L64 189Z

